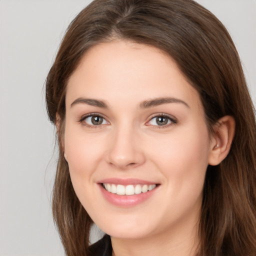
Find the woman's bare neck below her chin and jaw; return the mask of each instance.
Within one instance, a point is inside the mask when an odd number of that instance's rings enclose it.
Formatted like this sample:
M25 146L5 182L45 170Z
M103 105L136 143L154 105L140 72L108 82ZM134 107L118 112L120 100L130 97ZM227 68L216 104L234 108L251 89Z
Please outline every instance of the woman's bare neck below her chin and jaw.
M166 232L137 239L111 237L111 243L113 256L195 256L199 247L198 224L172 226Z

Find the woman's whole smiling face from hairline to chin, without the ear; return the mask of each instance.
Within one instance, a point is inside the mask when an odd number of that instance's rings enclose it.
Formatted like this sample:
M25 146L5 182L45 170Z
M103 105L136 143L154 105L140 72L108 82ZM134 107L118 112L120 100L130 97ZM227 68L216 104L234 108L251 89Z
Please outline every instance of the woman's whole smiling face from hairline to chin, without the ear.
M211 140L197 91L160 50L90 48L67 84L63 144L77 197L107 234L148 237L198 220Z

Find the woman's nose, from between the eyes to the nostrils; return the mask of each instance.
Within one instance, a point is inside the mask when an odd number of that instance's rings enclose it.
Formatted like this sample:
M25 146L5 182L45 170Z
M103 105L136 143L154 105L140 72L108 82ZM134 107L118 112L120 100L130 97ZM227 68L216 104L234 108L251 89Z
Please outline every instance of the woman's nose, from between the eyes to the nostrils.
M144 163L141 139L131 128L120 128L112 134L107 161L118 169L136 167Z

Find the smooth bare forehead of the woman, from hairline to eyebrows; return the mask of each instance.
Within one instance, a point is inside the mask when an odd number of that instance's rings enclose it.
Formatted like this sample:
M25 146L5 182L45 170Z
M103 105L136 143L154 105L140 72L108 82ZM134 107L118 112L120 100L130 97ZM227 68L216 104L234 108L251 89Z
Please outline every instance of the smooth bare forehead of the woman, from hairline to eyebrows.
M166 96L200 101L176 63L161 50L115 41L97 44L84 54L69 78L66 101L100 97L123 103Z

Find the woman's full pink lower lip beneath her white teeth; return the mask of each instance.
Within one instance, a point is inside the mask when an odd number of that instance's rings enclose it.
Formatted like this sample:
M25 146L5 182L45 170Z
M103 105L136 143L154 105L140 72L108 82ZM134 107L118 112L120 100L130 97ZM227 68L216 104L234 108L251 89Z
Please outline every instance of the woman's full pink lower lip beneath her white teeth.
M130 206L135 206L139 203L144 202L146 199L148 199L150 196L153 195L155 190L157 190L158 186L156 186L154 189L147 191L145 193L142 192L140 194L132 194L132 195L118 195L118 194L108 192L105 188L103 188L102 184L99 184L99 188L104 198L111 204L114 204L116 206L122 206L122 207L130 207Z

